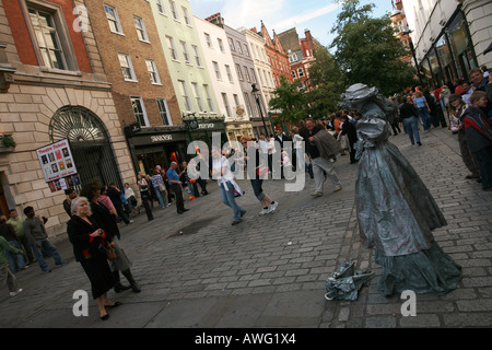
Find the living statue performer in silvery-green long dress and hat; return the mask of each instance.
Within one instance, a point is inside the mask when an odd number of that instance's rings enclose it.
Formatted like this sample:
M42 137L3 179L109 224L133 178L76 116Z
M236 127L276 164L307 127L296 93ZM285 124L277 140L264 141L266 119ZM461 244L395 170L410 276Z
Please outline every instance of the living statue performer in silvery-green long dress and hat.
M362 112L356 124L356 210L361 241L374 248L375 261L383 267L379 292L443 295L456 289L461 268L432 234L447 222L414 168L388 141L387 118L394 107L376 88L360 83L341 100L341 106Z

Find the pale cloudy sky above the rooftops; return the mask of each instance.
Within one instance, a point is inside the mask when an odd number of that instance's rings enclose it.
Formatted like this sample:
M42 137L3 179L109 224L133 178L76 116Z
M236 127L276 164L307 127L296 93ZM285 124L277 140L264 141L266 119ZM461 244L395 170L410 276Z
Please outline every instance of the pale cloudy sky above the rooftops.
M391 0L361 0L361 4L375 4L373 16L391 12ZM225 24L233 28L261 28L261 20L270 36L296 27L300 37L304 30L324 46L331 44L335 34L330 31L341 10L333 0L190 0L195 15L206 19L221 13Z

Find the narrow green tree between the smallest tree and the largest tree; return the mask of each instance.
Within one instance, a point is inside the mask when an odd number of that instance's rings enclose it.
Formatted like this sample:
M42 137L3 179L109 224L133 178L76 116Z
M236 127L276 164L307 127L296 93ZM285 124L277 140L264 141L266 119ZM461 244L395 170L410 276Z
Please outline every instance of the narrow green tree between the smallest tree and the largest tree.
M315 63L309 67L309 84L314 90L306 93L306 100L309 115L320 118L337 110L345 82L340 67L327 48L316 50L315 58Z

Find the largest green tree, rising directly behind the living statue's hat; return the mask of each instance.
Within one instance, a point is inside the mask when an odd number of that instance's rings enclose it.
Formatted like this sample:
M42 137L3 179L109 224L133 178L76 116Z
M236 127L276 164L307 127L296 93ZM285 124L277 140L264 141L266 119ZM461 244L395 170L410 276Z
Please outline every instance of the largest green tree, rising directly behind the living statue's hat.
M359 0L338 0L343 3L337 33L330 48L344 73L348 85L364 83L376 86L383 95L401 92L415 83L414 69L400 58L408 55L395 36L388 15L371 18L373 3L360 5Z

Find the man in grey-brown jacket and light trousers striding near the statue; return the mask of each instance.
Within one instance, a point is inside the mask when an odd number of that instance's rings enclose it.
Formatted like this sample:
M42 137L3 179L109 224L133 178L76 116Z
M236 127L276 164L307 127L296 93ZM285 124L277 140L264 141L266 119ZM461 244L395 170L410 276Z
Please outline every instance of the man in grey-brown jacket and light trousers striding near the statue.
M331 135L329 135L326 130L323 130L323 128L315 124L313 119L306 120L306 128L308 130L308 142L306 142L306 153L309 154L312 159L313 164L313 173L315 177L315 186L316 190L311 194L314 197L321 197L323 196L323 187L325 184L325 176L328 177L335 186L335 192L339 191L341 189L340 180L338 179L337 173L333 170L333 166L331 165L331 162L321 156L321 152L317 147L315 136L319 131L326 132L328 137L333 138ZM333 138L335 139L335 138ZM319 140L319 138L318 138ZM324 145L325 142L323 140L318 141L320 145ZM337 142L335 140L335 142ZM333 154L335 155L335 154ZM325 175L326 174L326 175Z

